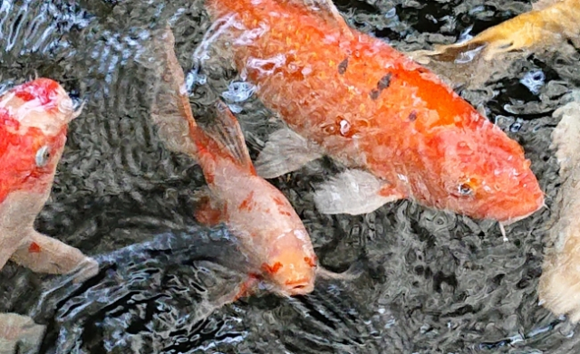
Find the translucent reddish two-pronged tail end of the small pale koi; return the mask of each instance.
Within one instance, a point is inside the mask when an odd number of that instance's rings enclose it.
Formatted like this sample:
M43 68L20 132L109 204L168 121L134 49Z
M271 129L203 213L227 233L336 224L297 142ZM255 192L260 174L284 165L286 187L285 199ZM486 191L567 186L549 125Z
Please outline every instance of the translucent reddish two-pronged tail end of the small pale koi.
M175 38L169 25L162 44L165 61L162 81L166 84L159 93L163 114L157 101L153 104L151 117L160 128L160 137L169 148L192 157L198 154L232 158L238 165L256 174L247 151L246 140L236 118L221 100L215 107L216 121L202 129L193 118L185 87L185 75L173 49Z

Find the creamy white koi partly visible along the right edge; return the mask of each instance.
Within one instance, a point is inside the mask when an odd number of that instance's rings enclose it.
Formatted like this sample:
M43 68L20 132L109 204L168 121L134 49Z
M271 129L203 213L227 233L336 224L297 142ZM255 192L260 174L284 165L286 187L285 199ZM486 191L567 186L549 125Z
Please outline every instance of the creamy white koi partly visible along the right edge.
M546 235L546 251L538 297L556 316L580 321L580 100L558 108L560 119L552 133L552 147L559 163L561 187L552 206L552 225Z

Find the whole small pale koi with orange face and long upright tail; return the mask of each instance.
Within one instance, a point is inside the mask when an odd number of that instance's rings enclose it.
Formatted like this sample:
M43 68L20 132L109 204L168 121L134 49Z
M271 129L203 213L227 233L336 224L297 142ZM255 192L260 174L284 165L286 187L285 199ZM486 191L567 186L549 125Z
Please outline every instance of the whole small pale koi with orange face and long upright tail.
M152 119L169 147L196 158L203 169L208 191L196 218L206 225L226 224L241 240L244 253L256 260L261 272L256 278L266 278L277 292L312 292L317 258L302 220L279 190L256 175L242 130L224 103L216 106L217 121L198 126L174 41L168 28L162 55L167 62L163 82L170 94L154 103ZM182 133L188 130L187 136ZM242 292L253 283L245 284Z

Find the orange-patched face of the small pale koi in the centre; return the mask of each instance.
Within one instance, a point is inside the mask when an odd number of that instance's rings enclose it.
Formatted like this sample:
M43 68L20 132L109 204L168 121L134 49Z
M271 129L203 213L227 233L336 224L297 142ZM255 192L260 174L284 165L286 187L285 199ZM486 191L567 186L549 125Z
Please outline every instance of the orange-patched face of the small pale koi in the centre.
M283 247L262 264L262 272L278 292L285 295L304 295L314 290L316 256L305 253L303 247Z

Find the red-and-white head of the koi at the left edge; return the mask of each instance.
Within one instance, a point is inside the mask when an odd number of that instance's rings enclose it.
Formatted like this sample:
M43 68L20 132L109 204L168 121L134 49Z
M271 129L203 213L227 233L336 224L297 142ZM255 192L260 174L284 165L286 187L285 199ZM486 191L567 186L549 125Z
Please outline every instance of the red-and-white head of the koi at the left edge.
M80 110L56 81L37 79L0 97L0 203L17 190L50 190L70 120Z

